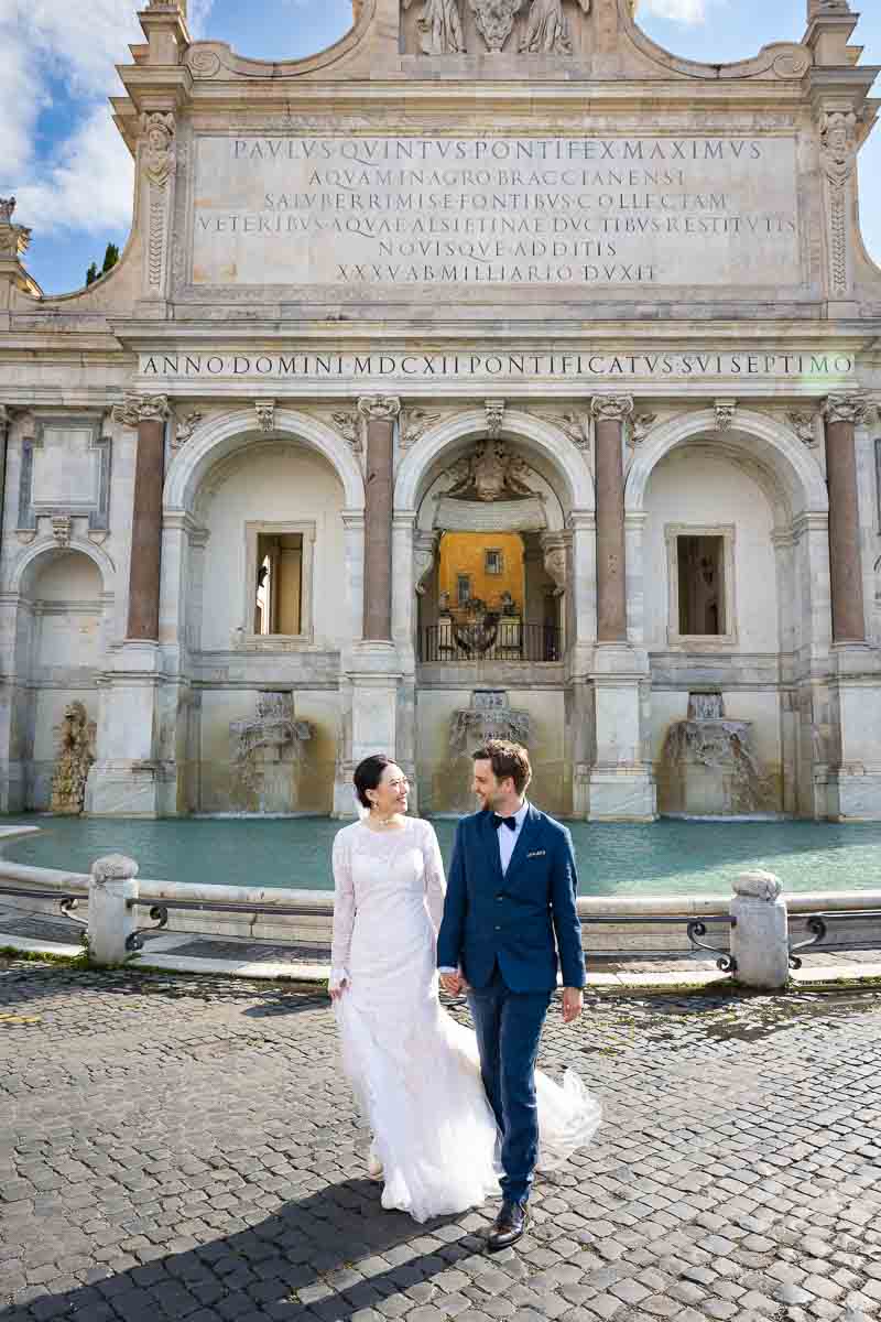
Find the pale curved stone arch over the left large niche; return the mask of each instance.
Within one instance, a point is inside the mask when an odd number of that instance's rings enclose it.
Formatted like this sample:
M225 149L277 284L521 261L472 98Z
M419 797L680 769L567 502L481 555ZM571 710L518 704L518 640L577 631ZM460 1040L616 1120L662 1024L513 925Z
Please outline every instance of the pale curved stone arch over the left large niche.
M276 408L271 432L259 432L251 408L221 414L178 451L172 461L162 497L164 513L192 512L206 475L221 460L255 440L291 439L321 455L342 483L350 510L365 506L365 483L358 461L346 442L326 423L295 408Z

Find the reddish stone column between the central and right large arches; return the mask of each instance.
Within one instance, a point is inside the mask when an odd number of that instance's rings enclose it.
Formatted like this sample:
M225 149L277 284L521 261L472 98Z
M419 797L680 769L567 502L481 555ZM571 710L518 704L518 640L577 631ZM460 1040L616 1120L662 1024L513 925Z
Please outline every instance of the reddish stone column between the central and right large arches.
M627 584L623 529L623 435L630 395L596 395L597 641L627 641Z

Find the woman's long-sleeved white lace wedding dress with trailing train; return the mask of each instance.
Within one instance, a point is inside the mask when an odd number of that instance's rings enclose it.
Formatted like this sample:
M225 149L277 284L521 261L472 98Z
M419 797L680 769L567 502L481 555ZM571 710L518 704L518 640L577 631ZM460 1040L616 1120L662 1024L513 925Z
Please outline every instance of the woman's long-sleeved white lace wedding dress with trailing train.
M383 1166L382 1204L417 1222L465 1211L499 1192L497 1128L477 1039L437 998L437 837L413 817L388 834L355 822L337 834L333 870L330 986L346 984L334 1002L343 1067ZM589 1142L601 1108L571 1069L563 1087L539 1071L538 1097L549 1170Z

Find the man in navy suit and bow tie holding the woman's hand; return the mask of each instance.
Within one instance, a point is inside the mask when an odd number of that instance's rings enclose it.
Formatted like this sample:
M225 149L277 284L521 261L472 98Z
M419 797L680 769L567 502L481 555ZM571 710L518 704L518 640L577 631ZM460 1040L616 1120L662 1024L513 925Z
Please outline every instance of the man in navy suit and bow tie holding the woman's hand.
M527 1222L539 1146L535 1060L557 966L567 1023L581 1013L585 969L572 838L527 802L526 748L491 739L473 758L482 810L456 832L437 966L450 995L468 990L502 1136L503 1200L487 1245L495 1251Z

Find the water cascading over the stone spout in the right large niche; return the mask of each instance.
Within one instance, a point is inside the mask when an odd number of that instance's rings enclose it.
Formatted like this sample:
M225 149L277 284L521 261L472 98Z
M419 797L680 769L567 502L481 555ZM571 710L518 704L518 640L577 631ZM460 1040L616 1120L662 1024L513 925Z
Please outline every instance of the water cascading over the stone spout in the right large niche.
M688 718L670 727L660 758L660 810L689 817L774 812L774 785L750 747L752 724L725 717L721 693L689 693Z

